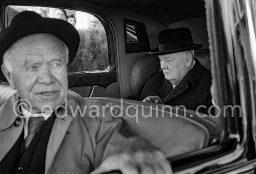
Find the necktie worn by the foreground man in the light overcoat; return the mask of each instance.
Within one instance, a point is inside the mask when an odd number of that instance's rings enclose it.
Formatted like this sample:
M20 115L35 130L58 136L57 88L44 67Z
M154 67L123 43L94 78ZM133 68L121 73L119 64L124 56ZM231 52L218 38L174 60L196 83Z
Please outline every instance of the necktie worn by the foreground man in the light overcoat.
M28 120L28 134L25 139L25 147L27 148L33 140L34 135L39 130L40 126L44 123L44 117L30 117Z

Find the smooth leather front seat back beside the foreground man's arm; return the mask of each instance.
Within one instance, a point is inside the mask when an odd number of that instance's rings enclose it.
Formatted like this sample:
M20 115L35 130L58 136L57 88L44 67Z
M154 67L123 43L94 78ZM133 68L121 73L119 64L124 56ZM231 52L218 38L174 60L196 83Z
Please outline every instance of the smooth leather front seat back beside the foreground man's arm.
M170 111L161 109L164 105L115 98L87 98L86 102L88 106L99 106L98 115L121 117L128 135L142 137L167 157L207 147L217 134L216 122L208 118L198 120L192 110L183 111L168 106ZM102 106L108 107L103 109Z

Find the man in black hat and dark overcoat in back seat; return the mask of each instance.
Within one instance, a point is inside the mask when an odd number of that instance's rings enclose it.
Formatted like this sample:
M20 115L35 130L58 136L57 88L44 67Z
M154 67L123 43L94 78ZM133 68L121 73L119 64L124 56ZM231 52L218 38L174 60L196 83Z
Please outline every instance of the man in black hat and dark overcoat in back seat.
M145 82L141 100L203 111L211 106L211 74L194 58L194 44L189 28L163 30L159 47L149 54L158 55L162 72Z

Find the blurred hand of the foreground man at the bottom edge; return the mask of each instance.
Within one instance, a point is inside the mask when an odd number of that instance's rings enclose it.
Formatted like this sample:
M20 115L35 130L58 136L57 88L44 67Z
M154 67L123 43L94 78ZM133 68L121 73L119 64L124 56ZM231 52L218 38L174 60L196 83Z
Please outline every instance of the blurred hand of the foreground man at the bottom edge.
M110 155L91 174L113 170L120 170L122 174L172 174L169 162L159 150Z

